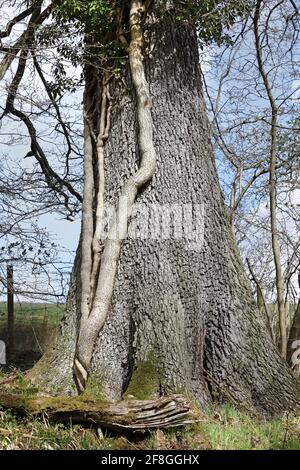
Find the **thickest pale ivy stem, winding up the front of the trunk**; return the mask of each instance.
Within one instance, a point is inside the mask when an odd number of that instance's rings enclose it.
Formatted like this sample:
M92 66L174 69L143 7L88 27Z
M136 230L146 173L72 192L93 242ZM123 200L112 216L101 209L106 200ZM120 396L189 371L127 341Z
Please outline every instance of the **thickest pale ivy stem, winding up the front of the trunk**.
M153 177L156 166L156 152L153 144L153 120L151 98L143 65L143 2L132 0L130 4L129 26L131 41L128 49L130 71L136 93L138 121L138 147L140 167L125 182L113 221L101 255L99 275L96 280L95 295L88 317L81 319L74 373L79 391L83 391L92 359L94 344L107 319L122 240L126 237L129 219L138 190Z

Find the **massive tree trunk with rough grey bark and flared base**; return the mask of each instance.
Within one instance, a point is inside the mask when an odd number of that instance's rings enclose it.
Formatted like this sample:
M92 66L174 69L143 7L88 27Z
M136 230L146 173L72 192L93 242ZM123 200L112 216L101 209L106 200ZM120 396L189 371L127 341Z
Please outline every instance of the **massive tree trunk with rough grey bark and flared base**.
M262 412L299 404L298 383L280 358L228 228L201 89L193 26L171 12L151 15L144 64L152 96L157 167L139 192L139 214L118 261L108 318L95 344L90 378L109 399L186 392L201 405L230 399ZM124 86L124 82L126 86ZM114 80L111 128L105 145L105 203L116 206L124 181L139 161L135 94L130 73ZM130 236L151 231L157 211L177 206L183 234ZM143 210L150 209L143 218ZM187 233L191 219L194 233ZM178 222L178 219L177 219ZM80 312L77 257L61 333L32 371L53 393L75 393L72 364Z

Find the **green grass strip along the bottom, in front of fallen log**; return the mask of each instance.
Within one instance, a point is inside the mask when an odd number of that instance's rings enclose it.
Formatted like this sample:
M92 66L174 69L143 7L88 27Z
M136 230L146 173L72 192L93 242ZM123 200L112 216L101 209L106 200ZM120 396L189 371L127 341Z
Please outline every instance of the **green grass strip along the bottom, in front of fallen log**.
M92 428L49 424L47 419L18 419L0 410L0 449L199 450L300 449L300 417L258 420L231 406L203 415L197 425L153 431L140 439L107 433L99 440Z

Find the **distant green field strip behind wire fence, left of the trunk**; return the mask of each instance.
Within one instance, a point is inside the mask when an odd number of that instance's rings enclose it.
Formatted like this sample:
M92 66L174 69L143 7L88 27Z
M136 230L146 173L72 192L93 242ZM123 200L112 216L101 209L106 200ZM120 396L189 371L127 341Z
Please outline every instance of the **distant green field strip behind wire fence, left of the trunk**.
M64 310L64 305L46 304L46 303L15 303L16 322L37 322L58 324ZM7 316L6 302L0 302L0 322L5 322Z

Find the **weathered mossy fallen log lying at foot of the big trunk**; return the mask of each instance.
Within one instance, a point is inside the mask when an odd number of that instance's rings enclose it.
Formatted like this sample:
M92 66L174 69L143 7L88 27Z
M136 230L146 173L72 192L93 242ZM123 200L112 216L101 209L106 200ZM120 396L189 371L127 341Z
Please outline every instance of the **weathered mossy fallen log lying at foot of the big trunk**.
M0 393L0 406L18 414L47 416L50 421L92 424L114 431L147 431L186 426L197 415L183 395L154 400L127 399L105 402L79 397L22 397Z

